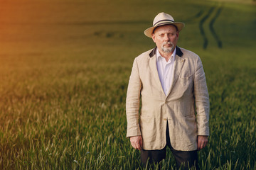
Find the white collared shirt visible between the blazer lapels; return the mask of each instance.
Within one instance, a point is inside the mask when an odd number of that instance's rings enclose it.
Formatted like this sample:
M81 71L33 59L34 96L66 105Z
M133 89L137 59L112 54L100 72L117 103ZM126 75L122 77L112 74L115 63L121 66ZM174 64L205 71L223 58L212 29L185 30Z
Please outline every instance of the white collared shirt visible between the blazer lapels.
M176 48L171 55L171 58L166 62L166 59L160 55L158 49L156 49L156 67L161 81L161 86L164 90L164 94L167 96L171 88L171 81L174 78L174 60L176 55Z

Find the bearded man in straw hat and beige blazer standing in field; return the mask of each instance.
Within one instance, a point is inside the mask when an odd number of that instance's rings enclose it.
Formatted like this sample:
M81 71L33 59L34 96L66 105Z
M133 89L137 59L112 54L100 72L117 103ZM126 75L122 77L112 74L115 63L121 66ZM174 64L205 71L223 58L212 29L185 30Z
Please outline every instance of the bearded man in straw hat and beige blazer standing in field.
M198 55L176 45L184 26L159 13L144 31L156 47L136 57L132 66L127 137L134 149L141 150L144 165L165 159L168 146L177 168L197 167L197 152L208 143L209 97L203 65Z

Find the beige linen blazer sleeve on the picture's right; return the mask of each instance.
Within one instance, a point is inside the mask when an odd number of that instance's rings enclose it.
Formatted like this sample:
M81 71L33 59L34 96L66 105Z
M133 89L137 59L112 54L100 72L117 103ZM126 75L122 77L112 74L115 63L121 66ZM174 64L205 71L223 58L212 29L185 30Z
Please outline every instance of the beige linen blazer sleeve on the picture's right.
M209 135L210 103L206 84L206 76L200 57L196 59L194 77L194 95L196 101L196 123L198 135Z

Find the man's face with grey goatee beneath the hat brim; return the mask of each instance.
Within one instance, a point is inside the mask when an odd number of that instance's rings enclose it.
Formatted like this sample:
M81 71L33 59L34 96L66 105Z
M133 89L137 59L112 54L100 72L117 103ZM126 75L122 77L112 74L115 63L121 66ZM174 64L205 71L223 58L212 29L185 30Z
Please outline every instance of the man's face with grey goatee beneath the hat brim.
M175 26L160 26L154 30L152 39L160 52L171 53L178 41L178 31Z

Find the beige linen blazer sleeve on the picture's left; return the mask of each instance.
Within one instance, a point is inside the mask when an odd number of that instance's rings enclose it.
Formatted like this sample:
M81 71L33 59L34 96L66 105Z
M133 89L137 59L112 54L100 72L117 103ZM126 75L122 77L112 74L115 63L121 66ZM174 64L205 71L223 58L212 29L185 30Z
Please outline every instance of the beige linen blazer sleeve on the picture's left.
M139 68L135 58L127 88L127 137L142 135L139 128L139 98L141 89L142 81L139 78Z

